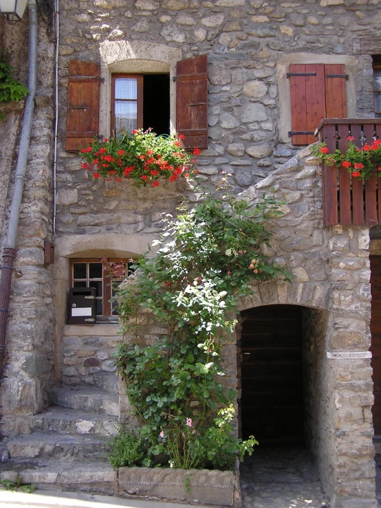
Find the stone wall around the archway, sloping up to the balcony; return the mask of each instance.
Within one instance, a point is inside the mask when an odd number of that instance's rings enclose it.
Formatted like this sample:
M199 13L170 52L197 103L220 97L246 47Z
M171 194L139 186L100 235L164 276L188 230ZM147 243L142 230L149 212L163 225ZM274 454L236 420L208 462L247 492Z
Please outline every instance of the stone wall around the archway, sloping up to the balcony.
M283 217L272 225L268 254L287 264L295 278L292 283L254 287L254 297L242 300L240 309L280 303L327 311L323 338L323 323L314 318L319 314L305 310L311 321L305 329L305 361L312 369L307 373L308 395L313 397L307 406L309 441L331 506L375 507L370 360L327 355L363 353L371 344L369 230L323 228L320 166L310 153L305 148L243 192L255 201L273 188L276 197L286 201ZM308 345L314 349L308 351ZM312 417L317 421L312 423Z

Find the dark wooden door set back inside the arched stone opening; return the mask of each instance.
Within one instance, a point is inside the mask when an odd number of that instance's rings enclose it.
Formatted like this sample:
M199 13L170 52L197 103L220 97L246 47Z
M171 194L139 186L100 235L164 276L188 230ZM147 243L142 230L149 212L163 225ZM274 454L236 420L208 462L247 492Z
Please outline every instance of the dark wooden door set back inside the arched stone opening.
M241 430L263 444L303 443L302 307L241 313Z

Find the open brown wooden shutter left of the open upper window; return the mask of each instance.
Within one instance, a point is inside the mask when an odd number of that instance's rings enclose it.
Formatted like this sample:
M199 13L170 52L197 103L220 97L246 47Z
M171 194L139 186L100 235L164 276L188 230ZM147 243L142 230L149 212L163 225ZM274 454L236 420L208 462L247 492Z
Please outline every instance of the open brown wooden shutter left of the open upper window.
M100 65L70 60L67 87L66 150L76 152L80 146L98 137Z

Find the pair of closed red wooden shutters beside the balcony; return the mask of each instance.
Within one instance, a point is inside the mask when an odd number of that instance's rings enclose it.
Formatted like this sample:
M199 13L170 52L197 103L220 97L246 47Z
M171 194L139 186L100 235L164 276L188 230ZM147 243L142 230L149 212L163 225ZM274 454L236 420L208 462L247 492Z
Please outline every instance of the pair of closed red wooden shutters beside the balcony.
M314 143L314 131L323 118L347 118L343 64L290 65L292 144Z

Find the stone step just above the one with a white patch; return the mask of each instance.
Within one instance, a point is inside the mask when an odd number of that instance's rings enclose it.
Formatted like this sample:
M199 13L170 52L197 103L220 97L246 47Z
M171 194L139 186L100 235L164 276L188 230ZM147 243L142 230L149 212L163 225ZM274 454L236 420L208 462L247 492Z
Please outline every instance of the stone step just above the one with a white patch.
M105 415L119 416L119 397L113 393L106 393L97 386L85 388L83 386L63 386L54 388L53 402L64 408L82 409L105 413Z

